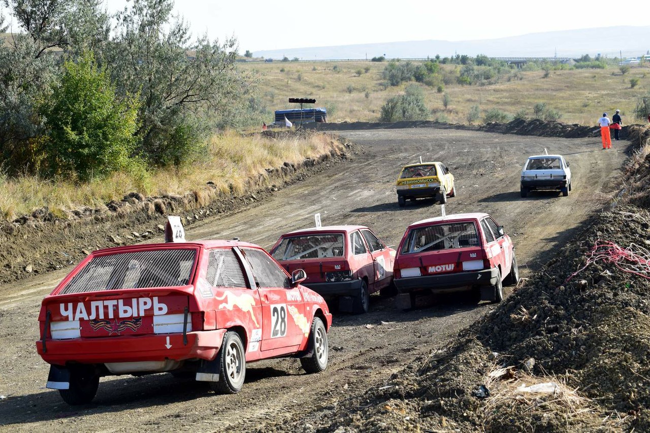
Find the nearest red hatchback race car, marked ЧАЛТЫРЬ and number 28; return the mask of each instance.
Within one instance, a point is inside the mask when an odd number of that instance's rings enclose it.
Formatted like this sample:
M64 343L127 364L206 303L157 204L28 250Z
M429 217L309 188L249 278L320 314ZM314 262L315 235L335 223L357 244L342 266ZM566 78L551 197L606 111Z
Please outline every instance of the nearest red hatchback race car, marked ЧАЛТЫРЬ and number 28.
M42 302L47 387L84 404L110 374L194 374L236 393L248 362L295 357L307 373L323 371L331 314L305 278L239 241L93 252Z

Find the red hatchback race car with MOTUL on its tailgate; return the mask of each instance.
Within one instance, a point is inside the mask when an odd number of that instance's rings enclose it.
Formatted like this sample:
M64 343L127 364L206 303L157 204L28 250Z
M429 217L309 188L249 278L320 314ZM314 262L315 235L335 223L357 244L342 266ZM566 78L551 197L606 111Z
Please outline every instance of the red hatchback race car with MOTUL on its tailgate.
M395 259L398 308L418 294L465 291L470 300L500 302L503 284L519 281L510 236L486 213L461 213L411 224Z

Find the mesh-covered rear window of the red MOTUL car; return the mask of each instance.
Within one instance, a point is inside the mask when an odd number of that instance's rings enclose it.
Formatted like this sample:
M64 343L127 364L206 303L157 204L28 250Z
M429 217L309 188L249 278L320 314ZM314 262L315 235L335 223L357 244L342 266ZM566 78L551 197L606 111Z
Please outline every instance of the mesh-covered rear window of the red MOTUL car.
M402 246L402 254L478 245L478 233L473 222L436 224L411 230L408 241Z

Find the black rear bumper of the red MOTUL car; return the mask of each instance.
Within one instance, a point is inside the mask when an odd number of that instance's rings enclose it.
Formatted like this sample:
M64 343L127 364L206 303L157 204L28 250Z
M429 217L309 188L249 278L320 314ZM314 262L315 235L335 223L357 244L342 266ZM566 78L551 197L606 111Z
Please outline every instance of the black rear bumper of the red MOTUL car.
M497 269L477 270L475 272L458 272L455 274L424 275L419 277L395 278L398 293L430 291L444 293L458 287L473 285L495 285Z

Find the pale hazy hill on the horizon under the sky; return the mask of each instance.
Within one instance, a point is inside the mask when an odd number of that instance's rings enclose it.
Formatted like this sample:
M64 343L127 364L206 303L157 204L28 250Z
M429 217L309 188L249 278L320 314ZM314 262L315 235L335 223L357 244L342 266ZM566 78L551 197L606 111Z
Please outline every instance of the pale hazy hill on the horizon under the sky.
M451 57L458 54L488 57L580 57L601 54L606 57L623 58L644 55L650 49L650 26L601 27L530 33L508 38L445 41L420 40L386 42L380 44L357 44L333 47L307 47L255 51L255 57L282 59L298 57L304 60L322 59L370 59L385 55L388 59Z

